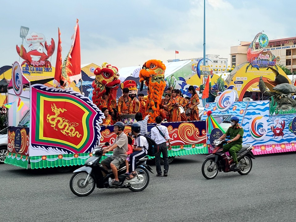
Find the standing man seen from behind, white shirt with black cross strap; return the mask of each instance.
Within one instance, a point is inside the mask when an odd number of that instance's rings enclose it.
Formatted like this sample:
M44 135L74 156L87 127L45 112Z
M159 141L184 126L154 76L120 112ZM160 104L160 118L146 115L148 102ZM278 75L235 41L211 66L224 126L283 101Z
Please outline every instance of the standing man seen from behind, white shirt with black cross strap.
M162 117L158 116L155 118L156 126L151 129L151 139L158 144L158 153L155 155L155 165L158 177L161 177L161 167L160 167L160 154L162 154L163 158L163 176L167 176L167 172L169 171L169 159L167 157L167 149L171 150L171 140L169 136L169 131L167 127L161 125ZM167 142L169 142L169 147L167 148Z

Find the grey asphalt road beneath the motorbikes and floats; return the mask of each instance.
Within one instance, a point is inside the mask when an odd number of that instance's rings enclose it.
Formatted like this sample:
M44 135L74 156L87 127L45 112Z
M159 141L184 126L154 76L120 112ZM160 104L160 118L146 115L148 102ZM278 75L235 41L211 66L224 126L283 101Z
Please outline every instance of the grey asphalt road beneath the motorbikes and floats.
M296 153L257 156L249 175L212 180L204 157L175 158L169 176L150 174L142 192L96 188L87 197L70 191L72 173L0 165L0 221L296 221Z

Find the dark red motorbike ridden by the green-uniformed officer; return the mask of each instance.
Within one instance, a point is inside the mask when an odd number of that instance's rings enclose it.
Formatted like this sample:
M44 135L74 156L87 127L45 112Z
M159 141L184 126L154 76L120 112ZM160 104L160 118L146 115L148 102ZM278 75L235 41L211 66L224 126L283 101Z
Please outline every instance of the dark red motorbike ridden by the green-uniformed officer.
M252 170L253 156L252 145L243 145L241 150L236 152L237 160L239 162L238 169L234 169L235 163L233 163L232 157L229 157L223 152L223 144L225 140L215 140L213 153L206 157L206 160L202 166L202 173L206 179L214 179L218 171L225 173L230 171L237 171L241 175L247 175Z

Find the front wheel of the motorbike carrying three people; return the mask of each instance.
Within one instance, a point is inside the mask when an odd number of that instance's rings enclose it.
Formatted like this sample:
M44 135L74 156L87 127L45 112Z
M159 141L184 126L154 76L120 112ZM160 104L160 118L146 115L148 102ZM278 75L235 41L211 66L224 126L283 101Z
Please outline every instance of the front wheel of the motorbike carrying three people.
M87 175L87 172L76 172L72 175L70 179L70 189L75 195L87 196L95 189L96 183L92 175L89 175L87 183L83 185Z

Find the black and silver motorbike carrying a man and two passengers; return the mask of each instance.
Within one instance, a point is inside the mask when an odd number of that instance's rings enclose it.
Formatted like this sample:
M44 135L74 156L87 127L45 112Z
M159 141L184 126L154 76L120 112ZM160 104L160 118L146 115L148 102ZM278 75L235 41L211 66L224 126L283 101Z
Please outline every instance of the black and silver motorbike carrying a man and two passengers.
M105 146L109 146L106 142ZM100 164L101 157L103 155L103 149L101 146L97 146L92 151L92 157L88 158L83 167L75 170L70 179L70 189L77 196L87 196L92 193L97 185L97 188L128 188L131 191L143 191L149 184L149 172L152 172L152 168L145 164L148 157L138 159L136 162L137 175L132 179L126 179L126 166L125 162L122 163L118 169L119 185L112 185L114 175L111 170L106 170L102 164Z

